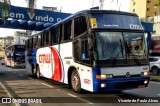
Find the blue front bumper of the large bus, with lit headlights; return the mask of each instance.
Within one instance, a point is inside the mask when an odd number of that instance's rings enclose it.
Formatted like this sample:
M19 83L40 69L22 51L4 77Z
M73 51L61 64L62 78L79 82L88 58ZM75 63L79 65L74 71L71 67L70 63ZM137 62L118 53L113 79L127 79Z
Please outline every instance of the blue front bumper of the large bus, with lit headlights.
M113 78L106 80L94 80L93 90L98 91L120 91L148 86L150 77Z

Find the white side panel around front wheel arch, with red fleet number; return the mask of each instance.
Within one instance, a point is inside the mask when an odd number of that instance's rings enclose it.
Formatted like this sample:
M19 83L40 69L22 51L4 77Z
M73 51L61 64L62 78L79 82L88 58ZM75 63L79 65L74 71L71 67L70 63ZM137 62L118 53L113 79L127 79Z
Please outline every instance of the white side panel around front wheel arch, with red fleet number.
M92 78L92 68L87 67L85 65L80 65L75 63L73 60L73 52L72 52L72 42L60 44L60 56L63 63L64 68L64 83L68 84L68 69L70 66L77 69L77 72L81 79L81 88L93 91L93 78Z

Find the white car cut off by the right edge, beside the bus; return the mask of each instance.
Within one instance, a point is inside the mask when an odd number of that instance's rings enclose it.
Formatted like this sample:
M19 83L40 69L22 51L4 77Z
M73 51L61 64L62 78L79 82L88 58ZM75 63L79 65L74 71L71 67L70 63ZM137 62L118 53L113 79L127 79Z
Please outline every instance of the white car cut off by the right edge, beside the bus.
M149 57L150 63L150 72L152 75L159 75L160 74L160 57L154 56Z

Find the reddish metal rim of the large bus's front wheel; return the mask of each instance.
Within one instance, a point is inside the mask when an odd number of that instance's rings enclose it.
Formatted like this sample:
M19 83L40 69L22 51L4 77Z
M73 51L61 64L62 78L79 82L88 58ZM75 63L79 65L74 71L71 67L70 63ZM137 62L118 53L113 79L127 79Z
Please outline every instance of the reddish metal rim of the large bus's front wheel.
M73 72L73 74L72 74L72 88L75 91L80 90L80 79L79 79L79 76L76 72Z

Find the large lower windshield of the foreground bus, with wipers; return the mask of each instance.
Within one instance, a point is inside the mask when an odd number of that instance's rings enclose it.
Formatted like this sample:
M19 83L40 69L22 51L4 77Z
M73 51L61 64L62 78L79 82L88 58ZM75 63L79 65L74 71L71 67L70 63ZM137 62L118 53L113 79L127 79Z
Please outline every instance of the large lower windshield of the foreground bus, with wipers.
M98 60L146 59L143 33L96 32Z

